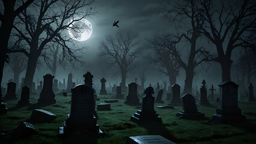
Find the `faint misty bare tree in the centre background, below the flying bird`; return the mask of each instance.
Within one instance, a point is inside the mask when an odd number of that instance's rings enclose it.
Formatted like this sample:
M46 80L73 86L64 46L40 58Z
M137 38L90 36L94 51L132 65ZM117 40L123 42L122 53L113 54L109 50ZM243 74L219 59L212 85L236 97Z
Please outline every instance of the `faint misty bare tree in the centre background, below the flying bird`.
M126 87L126 74L132 68L130 65L140 53L137 39L136 32L119 30L100 43L100 55L108 57L120 68L122 89Z

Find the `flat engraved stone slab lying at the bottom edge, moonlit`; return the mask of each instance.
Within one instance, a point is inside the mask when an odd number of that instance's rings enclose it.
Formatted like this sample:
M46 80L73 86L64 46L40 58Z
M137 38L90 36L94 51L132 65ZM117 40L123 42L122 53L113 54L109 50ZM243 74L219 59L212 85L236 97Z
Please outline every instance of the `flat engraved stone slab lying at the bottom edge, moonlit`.
M133 136L128 137L126 144L175 144L171 140L165 139L165 137L159 135L149 136Z

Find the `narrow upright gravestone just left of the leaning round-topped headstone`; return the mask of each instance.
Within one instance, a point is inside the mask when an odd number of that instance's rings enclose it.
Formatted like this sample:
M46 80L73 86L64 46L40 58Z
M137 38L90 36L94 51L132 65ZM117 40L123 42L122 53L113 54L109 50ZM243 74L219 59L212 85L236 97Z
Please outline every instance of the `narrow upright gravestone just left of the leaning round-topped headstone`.
M181 106L180 100L180 86L178 84L172 85L172 98L168 105L170 106Z

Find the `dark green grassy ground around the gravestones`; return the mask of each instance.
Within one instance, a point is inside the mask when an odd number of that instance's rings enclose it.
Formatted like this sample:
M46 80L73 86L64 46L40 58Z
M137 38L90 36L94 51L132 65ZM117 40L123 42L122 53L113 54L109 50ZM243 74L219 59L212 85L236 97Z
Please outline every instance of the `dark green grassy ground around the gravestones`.
M55 93L56 94L56 93ZM56 104L50 106L38 107L38 95L31 95L32 105L28 107L17 108L18 100L5 101L8 103L8 113L0 115L0 143L86 143L91 137L64 137L58 138L59 127L63 127L66 115L70 113L71 95L62 97L56 95ZM109 95L99 95L100 101L96 104L104 103L104 100L110 98ZM20 98L20 97L19 97ZM142 99L140 98L140 102ZM165 104L168 101L164 100ZM198 111L205 113L204 121L187 121L175 116L182 107L174 106L175 109L158 109L156 106L164 104L155 104L155 110L162 116L163 125L149 125L141 127L130 121L130 116L141 109L140 106L127 106L124 100L119 103L111 103L110 111L97 111L97 124L105 132L105 137L100 137L97 143L125 143L129 136L141 136L159 134L176 143L255 143L256 142L256 122L252 117L256 117L256 103L239 103L242 109L242 115L246 116L245 123L236 125L213 124L209 119L216 112L218 103L215 100L209 100L213 105L211 107L198 106ZM58 117L50 122L32 123L38 135L24 139L7 138L21 122L29 122L32 109L43 109L54 113ZM97 106L96 106L97 109ZM88 140L89 139L89 140ZM91 142L89 142L91 143Z

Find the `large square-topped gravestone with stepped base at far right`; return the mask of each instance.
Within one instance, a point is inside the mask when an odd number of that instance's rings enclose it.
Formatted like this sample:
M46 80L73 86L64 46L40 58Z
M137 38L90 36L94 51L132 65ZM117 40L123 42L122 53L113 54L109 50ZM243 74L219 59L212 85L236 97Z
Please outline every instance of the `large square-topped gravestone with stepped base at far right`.
M222 82L220 88L219 106L212 119L221 124L230 122L245 121L245 116L241 115L241 109L237 106L238 86L234 82Z

